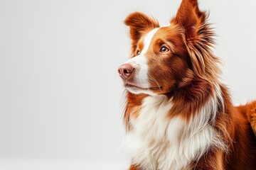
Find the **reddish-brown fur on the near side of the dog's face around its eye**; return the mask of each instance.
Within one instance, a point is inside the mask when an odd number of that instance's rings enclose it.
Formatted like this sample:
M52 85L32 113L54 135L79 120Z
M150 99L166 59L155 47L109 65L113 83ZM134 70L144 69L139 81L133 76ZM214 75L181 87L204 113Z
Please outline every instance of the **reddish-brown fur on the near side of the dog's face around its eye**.
M161 41L164 45L167 43L169 52L159 52ZM159 28L146 52L146 60L149 66L148 77L151 86L161 86L161 91L154 90L156 94L168 95L179 84L186 85L193 78L183 28L179 26Z

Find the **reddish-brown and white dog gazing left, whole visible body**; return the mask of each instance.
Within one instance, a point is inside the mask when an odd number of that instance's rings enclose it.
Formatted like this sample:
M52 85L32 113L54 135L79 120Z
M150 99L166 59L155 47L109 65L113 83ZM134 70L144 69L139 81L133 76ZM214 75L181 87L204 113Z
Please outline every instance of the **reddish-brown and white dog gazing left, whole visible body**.
M139 12L124 22L132 58L118 71L129 169L256 169L256 101L231 103L198 2L183 0L170 26Z

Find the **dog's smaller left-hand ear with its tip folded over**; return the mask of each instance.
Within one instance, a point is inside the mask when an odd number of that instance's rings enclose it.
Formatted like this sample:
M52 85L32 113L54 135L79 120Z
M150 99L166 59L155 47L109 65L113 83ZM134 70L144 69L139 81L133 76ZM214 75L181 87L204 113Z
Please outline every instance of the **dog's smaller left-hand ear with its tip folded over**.
M149 18L144 13L134 12L129 14L124 20L124 23L129 26L129 33L132 39L132 46L137 45L139 38L145 31L159 27L159 23L153 18Z

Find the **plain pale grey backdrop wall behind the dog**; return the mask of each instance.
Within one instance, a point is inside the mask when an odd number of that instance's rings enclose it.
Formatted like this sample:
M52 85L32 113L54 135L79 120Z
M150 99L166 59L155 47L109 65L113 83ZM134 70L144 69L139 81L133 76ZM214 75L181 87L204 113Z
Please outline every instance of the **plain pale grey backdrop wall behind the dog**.
M123 159L117 67L130 46L123 21L141 11L166 24L180 3L0 0L0 159ZM200 7L210 11L233 102L256 99L256 1Z

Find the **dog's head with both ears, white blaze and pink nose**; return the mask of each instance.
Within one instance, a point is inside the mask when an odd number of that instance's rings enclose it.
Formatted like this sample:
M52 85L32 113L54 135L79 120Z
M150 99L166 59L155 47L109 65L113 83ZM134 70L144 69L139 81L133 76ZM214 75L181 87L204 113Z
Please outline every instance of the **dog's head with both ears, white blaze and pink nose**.
M138 12L124 23L129 26L132 58L118 72L129 92L169 94L198 77L212 81L218 76L218 59L210 50L213 32L196 0L183 0L170 26L160 27Z

